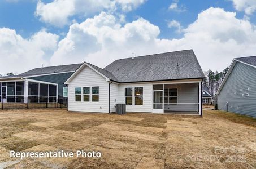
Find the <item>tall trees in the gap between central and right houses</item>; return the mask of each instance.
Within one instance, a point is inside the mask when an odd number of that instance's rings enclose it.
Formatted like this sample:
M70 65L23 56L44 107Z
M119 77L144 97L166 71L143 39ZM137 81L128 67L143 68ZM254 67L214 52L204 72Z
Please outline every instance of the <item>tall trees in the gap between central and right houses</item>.
M206 78L203 79L203 87L207 88L209 94L212 96L215 95L227 72L228 67L225 68L222 72L213 72L212 70L207 70L204 72Z

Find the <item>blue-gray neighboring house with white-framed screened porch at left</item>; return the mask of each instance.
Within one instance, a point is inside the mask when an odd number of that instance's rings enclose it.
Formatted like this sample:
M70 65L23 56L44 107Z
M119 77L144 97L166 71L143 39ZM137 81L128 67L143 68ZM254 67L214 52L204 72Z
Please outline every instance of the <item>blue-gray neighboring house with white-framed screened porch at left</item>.
M19 75L0 77L0 96L4 102L21 103L29 101L54 102L59 97L68 96L64 82L81 64L42 67ZM1 99L2 101L2 99Z

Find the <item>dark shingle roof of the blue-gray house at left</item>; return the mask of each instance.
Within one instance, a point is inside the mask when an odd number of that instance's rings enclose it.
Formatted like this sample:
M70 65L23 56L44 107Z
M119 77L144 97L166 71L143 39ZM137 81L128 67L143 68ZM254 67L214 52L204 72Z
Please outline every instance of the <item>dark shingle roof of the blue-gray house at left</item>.
M79 68L81 64L71 64L71 65L60 65L60 66L50 66L44 68L35 68L19 74L19 76L28 76L28 75L40 75L40 74L49 74L49 73L60 73L60 72L70 72L75 71Z

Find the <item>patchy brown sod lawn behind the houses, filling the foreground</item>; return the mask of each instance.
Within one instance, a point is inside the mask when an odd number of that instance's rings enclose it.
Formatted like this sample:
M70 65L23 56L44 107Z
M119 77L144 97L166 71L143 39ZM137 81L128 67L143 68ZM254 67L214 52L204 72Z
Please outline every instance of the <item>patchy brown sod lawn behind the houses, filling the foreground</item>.
M16 152L100 151L101 158L10 158ZM0 111L0 168L255 168L256 119Z

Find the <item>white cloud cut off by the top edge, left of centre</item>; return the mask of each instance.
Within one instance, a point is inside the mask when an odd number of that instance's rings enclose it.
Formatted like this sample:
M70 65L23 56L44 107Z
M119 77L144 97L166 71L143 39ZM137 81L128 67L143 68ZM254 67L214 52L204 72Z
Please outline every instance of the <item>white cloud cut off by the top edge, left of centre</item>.
M146 0L54 0L50 3L38 1L36 16L41 21L54 26L70 24L74 15L87 16L103 10L114 12L121 8L128 12L137 8Z

